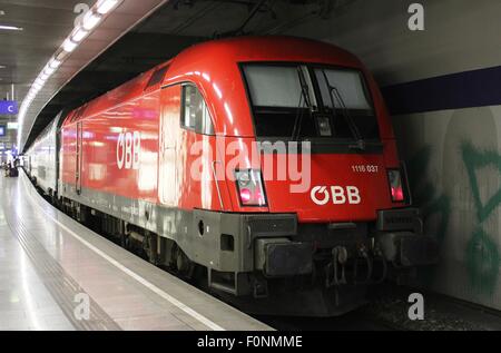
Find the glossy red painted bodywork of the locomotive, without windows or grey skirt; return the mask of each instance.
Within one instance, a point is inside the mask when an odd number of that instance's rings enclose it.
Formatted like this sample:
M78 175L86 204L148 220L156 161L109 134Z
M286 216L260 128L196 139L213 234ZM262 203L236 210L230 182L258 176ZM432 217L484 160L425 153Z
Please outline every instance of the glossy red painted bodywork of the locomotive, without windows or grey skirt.
M242 207L234 182L216 184L213 168L217 171L219 163L229 161L218 143L224 139L250 148L255 141L252 110L238 66L249 61L315 62L363 70L374 99L383 155L312 157L312 186L356 186L362 196L360 205L317 206L310 193L291 194L291 182L267 180L268 206ZM373 77L351 53L330 45L287 37L239 38L195 46L159 67L165 65L169 69L161 84L145 90L153 69L68 115L61 141L63 183L76 183L76 124L81 121L84 188L183 209L297 213L302 222L373 220L377 209L404 206L392 204L390 198L385 169L399 167L399 157L384 101ZM193 82L200 90L216 136L180 128L181 82ZM166 86L169 87L160 89ZM135 131L140 135L139 168L120 169L119 136ZM190 154L197 143L206 147L202 159ZM377 166L379 173L354 173L352 166L356 165ZM248 166L264 168L259 163L249 161ZM202 180L191 178L189 171L195 167L199 168Z

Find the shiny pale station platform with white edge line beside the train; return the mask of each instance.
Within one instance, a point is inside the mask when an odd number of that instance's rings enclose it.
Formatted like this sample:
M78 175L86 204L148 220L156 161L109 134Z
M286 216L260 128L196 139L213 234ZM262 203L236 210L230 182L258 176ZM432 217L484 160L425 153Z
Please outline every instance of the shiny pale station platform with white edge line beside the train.
M89 305L87 305L89 304ZM0 331L267 331L0 176Z

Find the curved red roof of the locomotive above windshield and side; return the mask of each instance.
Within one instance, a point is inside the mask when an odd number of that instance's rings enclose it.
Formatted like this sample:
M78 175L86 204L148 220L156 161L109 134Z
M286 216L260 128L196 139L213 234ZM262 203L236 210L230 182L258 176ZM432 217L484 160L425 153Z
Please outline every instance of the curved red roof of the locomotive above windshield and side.
M176 73L181 73L184 72L183 70L186 71L186 68L189 70L191 65L203 61L220 61L222 67L225 63L252 61L337 62L342 66L362 67L360 60L348 51L312 39L264 36L212 40L185 49L171 60L160 63L132 80L76 108L66 116L63 125L72 124L84 117L95 116L120 104L134 100L145 92L159 89L163 85L169 84L169 80L176 78ZM168 67L169 75L148 87L155 72L166 67Z

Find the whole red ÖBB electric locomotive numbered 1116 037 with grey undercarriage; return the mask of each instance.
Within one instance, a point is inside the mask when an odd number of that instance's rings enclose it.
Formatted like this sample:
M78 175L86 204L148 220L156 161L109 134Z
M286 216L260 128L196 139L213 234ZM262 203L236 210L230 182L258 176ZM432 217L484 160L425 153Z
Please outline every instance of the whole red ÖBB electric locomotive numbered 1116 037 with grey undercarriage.
M62 207L248 311L338 315L435 262L381 92L334 46L197 45L62 119Z

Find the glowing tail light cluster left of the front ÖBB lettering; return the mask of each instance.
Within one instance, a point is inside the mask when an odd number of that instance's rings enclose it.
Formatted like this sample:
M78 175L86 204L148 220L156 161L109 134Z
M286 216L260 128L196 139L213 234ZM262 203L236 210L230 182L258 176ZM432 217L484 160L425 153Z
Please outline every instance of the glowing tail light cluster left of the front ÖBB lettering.
M235 176L243 206L266 206L267 200L259 170L237 170Z

